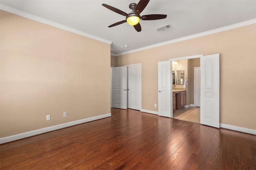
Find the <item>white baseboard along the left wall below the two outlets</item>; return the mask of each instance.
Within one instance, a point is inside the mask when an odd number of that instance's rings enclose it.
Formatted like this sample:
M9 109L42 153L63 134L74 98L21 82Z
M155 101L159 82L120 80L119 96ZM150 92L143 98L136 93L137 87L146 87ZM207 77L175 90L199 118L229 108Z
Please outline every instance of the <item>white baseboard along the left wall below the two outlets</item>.
M33 131L30 131L30 132L24 132L24 133L21 133L21 134L7 136L7 137L4 137L4 138L0 138L0 144L6 143L6 142L11 142L11 141L14 141L14 140L19 140L19 139L22 139L22 138L27 138L27 137L34 136L34 135L37 135L37 134L42 134L42 133L45 133L45 132L50 132L50 131L61 129L61 128L66 128L66 127L69 127L69 126L74 126L74 125L77 125L77 124L82 124L82 123L91 122L91 121L102 119L102 118L107 118L107 117L110 117L110 116L111 116L111 113L102 114L100 116L94 116L94 117L91 117L91 118L76 120L76 121L73 121L73 122L58 124L56 126L50 126L50 127L47 127L47 128L33 130Z

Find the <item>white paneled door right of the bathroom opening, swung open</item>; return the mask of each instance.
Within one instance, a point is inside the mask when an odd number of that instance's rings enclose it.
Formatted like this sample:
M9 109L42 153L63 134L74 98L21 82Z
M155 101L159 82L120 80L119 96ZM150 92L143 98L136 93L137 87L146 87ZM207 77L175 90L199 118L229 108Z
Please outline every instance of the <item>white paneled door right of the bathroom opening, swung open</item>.
M200 123L220 128L220 54L202 56Z

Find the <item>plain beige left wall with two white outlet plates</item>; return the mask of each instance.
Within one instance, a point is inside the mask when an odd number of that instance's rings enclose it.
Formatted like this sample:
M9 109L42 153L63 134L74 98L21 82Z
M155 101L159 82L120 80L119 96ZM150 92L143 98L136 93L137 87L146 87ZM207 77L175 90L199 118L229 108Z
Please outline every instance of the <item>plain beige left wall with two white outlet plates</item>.
M110 44L0 16L1 138L110 113Z

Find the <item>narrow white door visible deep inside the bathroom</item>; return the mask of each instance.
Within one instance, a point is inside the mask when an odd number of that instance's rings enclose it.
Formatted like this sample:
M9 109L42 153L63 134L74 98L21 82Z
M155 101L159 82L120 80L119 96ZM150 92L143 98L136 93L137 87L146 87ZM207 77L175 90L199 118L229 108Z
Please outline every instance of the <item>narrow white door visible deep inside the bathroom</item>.
M200 67L194 67L194 105L200 107Z

